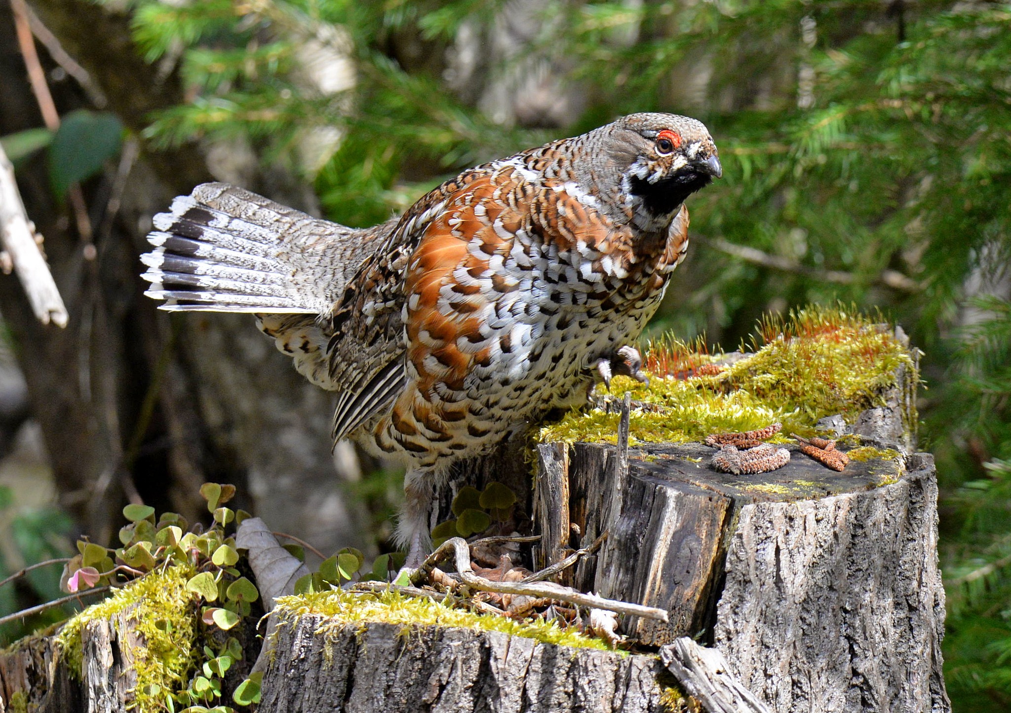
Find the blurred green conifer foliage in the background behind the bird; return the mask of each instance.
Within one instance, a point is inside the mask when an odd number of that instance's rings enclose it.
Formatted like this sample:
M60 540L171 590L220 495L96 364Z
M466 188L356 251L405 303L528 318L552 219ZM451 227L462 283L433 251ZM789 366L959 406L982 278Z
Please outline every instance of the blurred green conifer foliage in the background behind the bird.
M691 200L695 244L651 329L732 346L766 310L836 300L906 326L945 499L949 692L962 713L1011 703L1011 4L124 4L187 90L149 140L247 140L351 225L619 114L706 121L724 178ZM539 14L496 50L511 12ZM581 109L493 120L452 77L468 50L484 88L549 68Z

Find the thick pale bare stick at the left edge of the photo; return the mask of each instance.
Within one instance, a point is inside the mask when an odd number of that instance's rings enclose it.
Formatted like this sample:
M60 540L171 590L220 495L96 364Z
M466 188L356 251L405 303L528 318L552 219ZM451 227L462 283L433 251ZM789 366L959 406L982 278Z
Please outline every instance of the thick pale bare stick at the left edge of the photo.
M17 277L31 304L31 310L42 324L51 321L67 326L69 315L60 290L53 280L38 243L34 226L28 220L17 191L14 167L0 146L0 243L10 256Z

